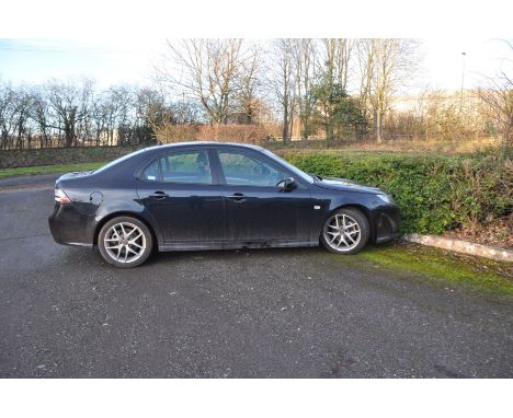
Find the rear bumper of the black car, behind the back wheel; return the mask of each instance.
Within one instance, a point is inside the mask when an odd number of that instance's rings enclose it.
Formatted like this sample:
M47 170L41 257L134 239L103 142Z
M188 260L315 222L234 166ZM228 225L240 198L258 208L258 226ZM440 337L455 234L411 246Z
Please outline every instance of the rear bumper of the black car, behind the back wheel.
M92 222L94 217L77 211L73 205L55 205L48 217L54 241L62 245L93 246Z

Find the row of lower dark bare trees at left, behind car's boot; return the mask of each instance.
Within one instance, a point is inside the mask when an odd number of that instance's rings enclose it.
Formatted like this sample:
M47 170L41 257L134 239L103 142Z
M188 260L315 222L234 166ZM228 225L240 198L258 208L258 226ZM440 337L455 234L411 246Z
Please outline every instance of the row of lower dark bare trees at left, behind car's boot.
M153 89L94 89L91 80L0 83L1 149L134 144L152 140L163 103Z

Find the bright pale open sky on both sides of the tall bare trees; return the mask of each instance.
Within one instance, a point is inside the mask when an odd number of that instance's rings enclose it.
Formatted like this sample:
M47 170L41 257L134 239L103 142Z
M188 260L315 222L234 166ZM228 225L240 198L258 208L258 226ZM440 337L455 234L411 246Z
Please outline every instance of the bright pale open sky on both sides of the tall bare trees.
M265 40L262 40L265 43ZM0 78L3 81L42 82L49 78L89 77L101 86L150 83L163 38L148 39L0 39ZM417 85L458 90L465 53L465 88L475 88L506 62L513 51L494 38L421 39L421 72ZM505 61L508 60L509 61Z

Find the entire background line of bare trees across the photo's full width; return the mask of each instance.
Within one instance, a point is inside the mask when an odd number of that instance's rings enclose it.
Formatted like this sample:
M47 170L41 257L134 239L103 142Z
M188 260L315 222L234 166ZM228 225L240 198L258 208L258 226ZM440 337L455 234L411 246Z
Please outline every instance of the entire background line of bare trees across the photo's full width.
M293 137L380 142L391 131L425 128L428 136L466 124L463 96L457 108L431 92L419 100L421 111L396 112L418 68L418 47L390 38L167 40L150 86L0 82L0 148L139 144L173 127L181 133L179 127L205 125L272 126L269 135L285 143ZM478 129L491 120L511 137L511 78L503 72L498 80L500 89L493 80L476 93L488 106Z

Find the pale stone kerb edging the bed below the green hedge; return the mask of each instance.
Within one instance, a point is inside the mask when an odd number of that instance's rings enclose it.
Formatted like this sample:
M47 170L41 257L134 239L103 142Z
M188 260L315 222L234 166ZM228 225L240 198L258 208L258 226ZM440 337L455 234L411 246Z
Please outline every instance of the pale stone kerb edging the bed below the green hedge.
M475 244L468 241L452 240L442 236L420 234L404 234L403 240L417 244L454 251L456 253L491 258L498 262L513 263L513 251L487 246L482 244Z

